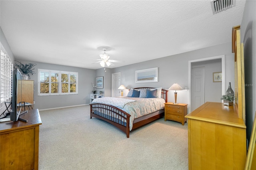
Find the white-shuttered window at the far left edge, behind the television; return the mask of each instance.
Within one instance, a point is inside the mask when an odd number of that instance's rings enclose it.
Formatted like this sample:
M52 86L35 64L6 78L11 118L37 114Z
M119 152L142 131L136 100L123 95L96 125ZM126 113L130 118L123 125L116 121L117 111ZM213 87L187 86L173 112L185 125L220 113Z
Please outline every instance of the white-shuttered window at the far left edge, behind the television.
M1 44L1 65L0 65L0 91L1 107L5 101L10 101L12 97L12 61Z

